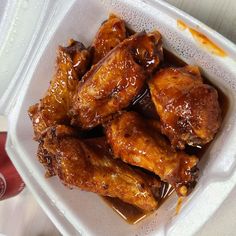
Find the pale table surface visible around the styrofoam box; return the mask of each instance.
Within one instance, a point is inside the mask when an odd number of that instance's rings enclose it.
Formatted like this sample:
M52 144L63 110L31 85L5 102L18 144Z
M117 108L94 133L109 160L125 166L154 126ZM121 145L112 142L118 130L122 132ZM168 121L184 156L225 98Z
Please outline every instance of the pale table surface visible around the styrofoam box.
M236 0L166 1L186 11L236 43ZM0 130L3 129L6 129L6 121L0 117ZM236 235L235 199L236 188L197 235ZM1 233L8 236L60 235L27 188L18 196L0 202Z

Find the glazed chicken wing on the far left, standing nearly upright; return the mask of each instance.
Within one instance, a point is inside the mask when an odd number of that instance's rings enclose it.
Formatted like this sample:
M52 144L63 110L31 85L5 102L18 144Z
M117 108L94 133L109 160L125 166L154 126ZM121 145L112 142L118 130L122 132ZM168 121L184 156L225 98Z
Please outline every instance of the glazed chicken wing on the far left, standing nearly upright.
M79 42L71 40L68 47L59 47L54 78L45 96L28 111L36 140L40 139L47 127L69 123L68 110L72 97L89 60L89 52Z

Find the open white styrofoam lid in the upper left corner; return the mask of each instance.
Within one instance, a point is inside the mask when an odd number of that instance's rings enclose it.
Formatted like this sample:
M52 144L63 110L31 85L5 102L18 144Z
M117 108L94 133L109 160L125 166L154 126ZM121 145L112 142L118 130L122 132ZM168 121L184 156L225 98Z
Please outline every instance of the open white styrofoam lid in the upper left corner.
M67 7L69 6L67 2ZM47 23L56 20L63 1L4 0L0 7L0 114L14 106L29 66L29 57L37 51ZM64 9L65 10L65 9Z

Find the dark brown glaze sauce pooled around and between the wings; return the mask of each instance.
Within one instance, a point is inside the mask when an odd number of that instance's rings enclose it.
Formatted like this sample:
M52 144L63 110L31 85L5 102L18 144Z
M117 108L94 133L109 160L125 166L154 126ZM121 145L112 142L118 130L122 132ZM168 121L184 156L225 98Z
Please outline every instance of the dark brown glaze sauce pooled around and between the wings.
M162 68L169 66L182 67L185 65L187 65L187 63L182 61L180 58L176 57L168 50L164 49L164 63L162 63L161 65ZM202 77L205 83L212 85L212 83L208 79L206 79L204 76ZM220 107L222 109L222 119L224 119L228 110L229 102L225 94L215 85L213 86L218 91ZM145 109L141 109L143 107L145 107ZM154 110L155 108L151 101L148 87L144 88L144 91L138 96L138 98L135 101L133 101L133 105L129 109L138 111L147 118L158 118L156 111ZM194 154L199 159L201 159L201 157L204 155L209 145L210 144L207 144L203 148L187 146L185 152L188 154ZM166 184L162 190L161 199L159 200L159 207L173 192L174 189L170 185ZM124 203L117 198L110 198L110 197L102 197L102 198L116 213L118 213L125 221L127 221L130 224L136 224L140 222L142 219L146 218L148 215L152 214L152 212L151 213L143 212L139 208ZM181 209L182 201L183 199L180 198L176 205L176 214L178 214Z

